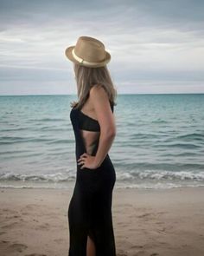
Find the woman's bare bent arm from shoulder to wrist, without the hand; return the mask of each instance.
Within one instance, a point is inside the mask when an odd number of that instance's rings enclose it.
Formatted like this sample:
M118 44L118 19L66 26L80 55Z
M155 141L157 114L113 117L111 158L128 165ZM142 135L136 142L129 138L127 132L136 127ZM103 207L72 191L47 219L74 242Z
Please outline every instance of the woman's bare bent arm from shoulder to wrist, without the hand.
M116 125L105 89L101 86L93 86L89 96L100 125L99 147L94 161L95 165L99 167L112 147L112 141L116 135Z

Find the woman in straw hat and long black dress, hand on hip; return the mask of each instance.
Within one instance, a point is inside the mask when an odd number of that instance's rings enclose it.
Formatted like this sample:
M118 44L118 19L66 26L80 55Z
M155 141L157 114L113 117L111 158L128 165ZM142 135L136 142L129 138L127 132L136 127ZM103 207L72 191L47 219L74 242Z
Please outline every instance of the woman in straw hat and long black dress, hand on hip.
M79 102L70 119L75 135L77 175L67 217L69 256L115 256L112 189L115 169L108 151L116 135L117 95L106 67L111 55L96 38L80 36L66 49L74 63Z

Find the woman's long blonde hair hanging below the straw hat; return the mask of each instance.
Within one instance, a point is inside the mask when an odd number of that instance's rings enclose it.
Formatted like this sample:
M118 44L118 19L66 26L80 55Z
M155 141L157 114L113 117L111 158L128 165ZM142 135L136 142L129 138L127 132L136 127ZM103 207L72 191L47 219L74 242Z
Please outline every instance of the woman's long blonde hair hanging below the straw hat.
M89 96L90 89L93 86L98 85L103 86L107 92L109 101L112 102L113 105L117 105L115 102L117 90L114 88L110 72L106 65L99 68L89 68L74 62L73 69L77 83L77 95L79 100L78 102L71 102L72 108L82 108Z

